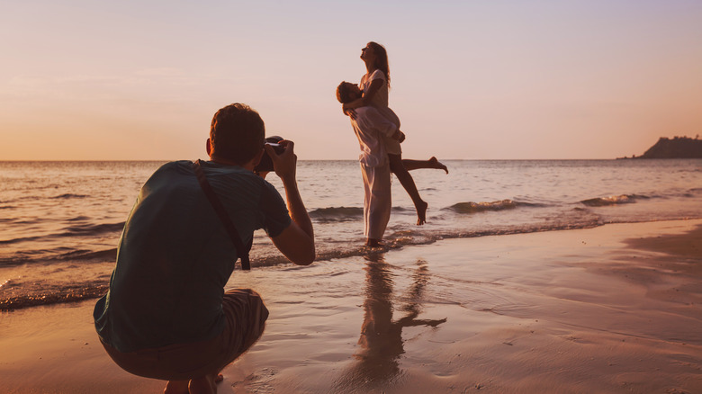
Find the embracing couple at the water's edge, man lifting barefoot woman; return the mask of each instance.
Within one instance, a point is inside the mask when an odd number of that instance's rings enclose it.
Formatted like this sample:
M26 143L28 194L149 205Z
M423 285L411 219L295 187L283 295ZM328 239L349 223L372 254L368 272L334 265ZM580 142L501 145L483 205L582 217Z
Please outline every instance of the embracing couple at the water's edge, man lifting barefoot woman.
M390 67L385 48L368 42L361 49L366 74L360 85L342 82L337 87L337 99L351 119L351 125L361 148L359 161L364 177L364 235L366 246L381 246L383 233L390 220L392 209L391 172L410 194L417 210L417 224L427 220L428 203L419 196L410 170L419 168L443 169L446 166L436 157L428 160L402 159L401 142L405 139L400 130L400 119L388 107Z

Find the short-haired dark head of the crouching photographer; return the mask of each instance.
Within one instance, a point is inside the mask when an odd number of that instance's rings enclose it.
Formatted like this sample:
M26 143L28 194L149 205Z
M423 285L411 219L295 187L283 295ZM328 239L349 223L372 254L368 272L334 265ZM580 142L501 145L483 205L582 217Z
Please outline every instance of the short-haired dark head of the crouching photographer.
M212 117L210 144L212 157L246 164L266 142L266 126L258 112L247 104L233 103Z

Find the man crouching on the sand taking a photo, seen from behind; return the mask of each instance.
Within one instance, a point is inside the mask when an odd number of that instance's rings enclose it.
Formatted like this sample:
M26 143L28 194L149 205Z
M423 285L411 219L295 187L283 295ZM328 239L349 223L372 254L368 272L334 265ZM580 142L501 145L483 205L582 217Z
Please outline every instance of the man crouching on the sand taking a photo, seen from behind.
M115 363L168 381L166 394L216 392L220 371L263 333L268 310L257 292L224 291L234 262L248 263L254 230L264 228L293 263L314 260L293 142L283 141L280 155L264 144L256 111L240 103L220 109L207 139L210 161L158 168L124 225L110 290L94 308L95 328ZM254 173L264 152L287 204Z

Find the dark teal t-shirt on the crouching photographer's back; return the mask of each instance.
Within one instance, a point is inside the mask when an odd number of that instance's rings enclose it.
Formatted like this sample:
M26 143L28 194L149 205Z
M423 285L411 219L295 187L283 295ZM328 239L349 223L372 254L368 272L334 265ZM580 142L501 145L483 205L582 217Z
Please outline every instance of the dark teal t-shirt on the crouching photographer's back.
M127 353L218 336L224 286L237 251L202 192L191 161L161 166L141 187L124 225L110 291L94 322L103 342ZM202 162L244 245L291 219L280 193L240 166Z

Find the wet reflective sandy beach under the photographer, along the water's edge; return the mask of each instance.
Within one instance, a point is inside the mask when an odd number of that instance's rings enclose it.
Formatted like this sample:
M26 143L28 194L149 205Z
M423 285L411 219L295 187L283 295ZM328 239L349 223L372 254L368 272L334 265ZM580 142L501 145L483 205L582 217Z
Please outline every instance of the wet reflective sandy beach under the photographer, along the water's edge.
M447 239L236 271L270 309L220 393L702 392L702 220ZM94 300L0 314L8 393L161 392Z

